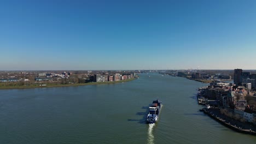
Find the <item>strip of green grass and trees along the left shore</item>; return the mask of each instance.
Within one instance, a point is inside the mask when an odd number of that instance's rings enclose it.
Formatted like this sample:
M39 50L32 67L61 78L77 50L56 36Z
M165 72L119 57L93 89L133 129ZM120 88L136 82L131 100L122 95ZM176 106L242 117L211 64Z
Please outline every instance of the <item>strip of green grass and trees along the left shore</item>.
M88 82L88 83L48 83L48 82L41 82L41 83L26 83L26 82L1 82L0 89L13 89L13 88L42 88L42 87L68 87L68 86L85 86L85 85L102 85L102 84L109 84L109 83L120 83L120 82L127 82L132 81L133 79L127 79L122 81L106 81L106 82ZM41 85L41 86L40 86ZM46 85L46 86L42 86Z

